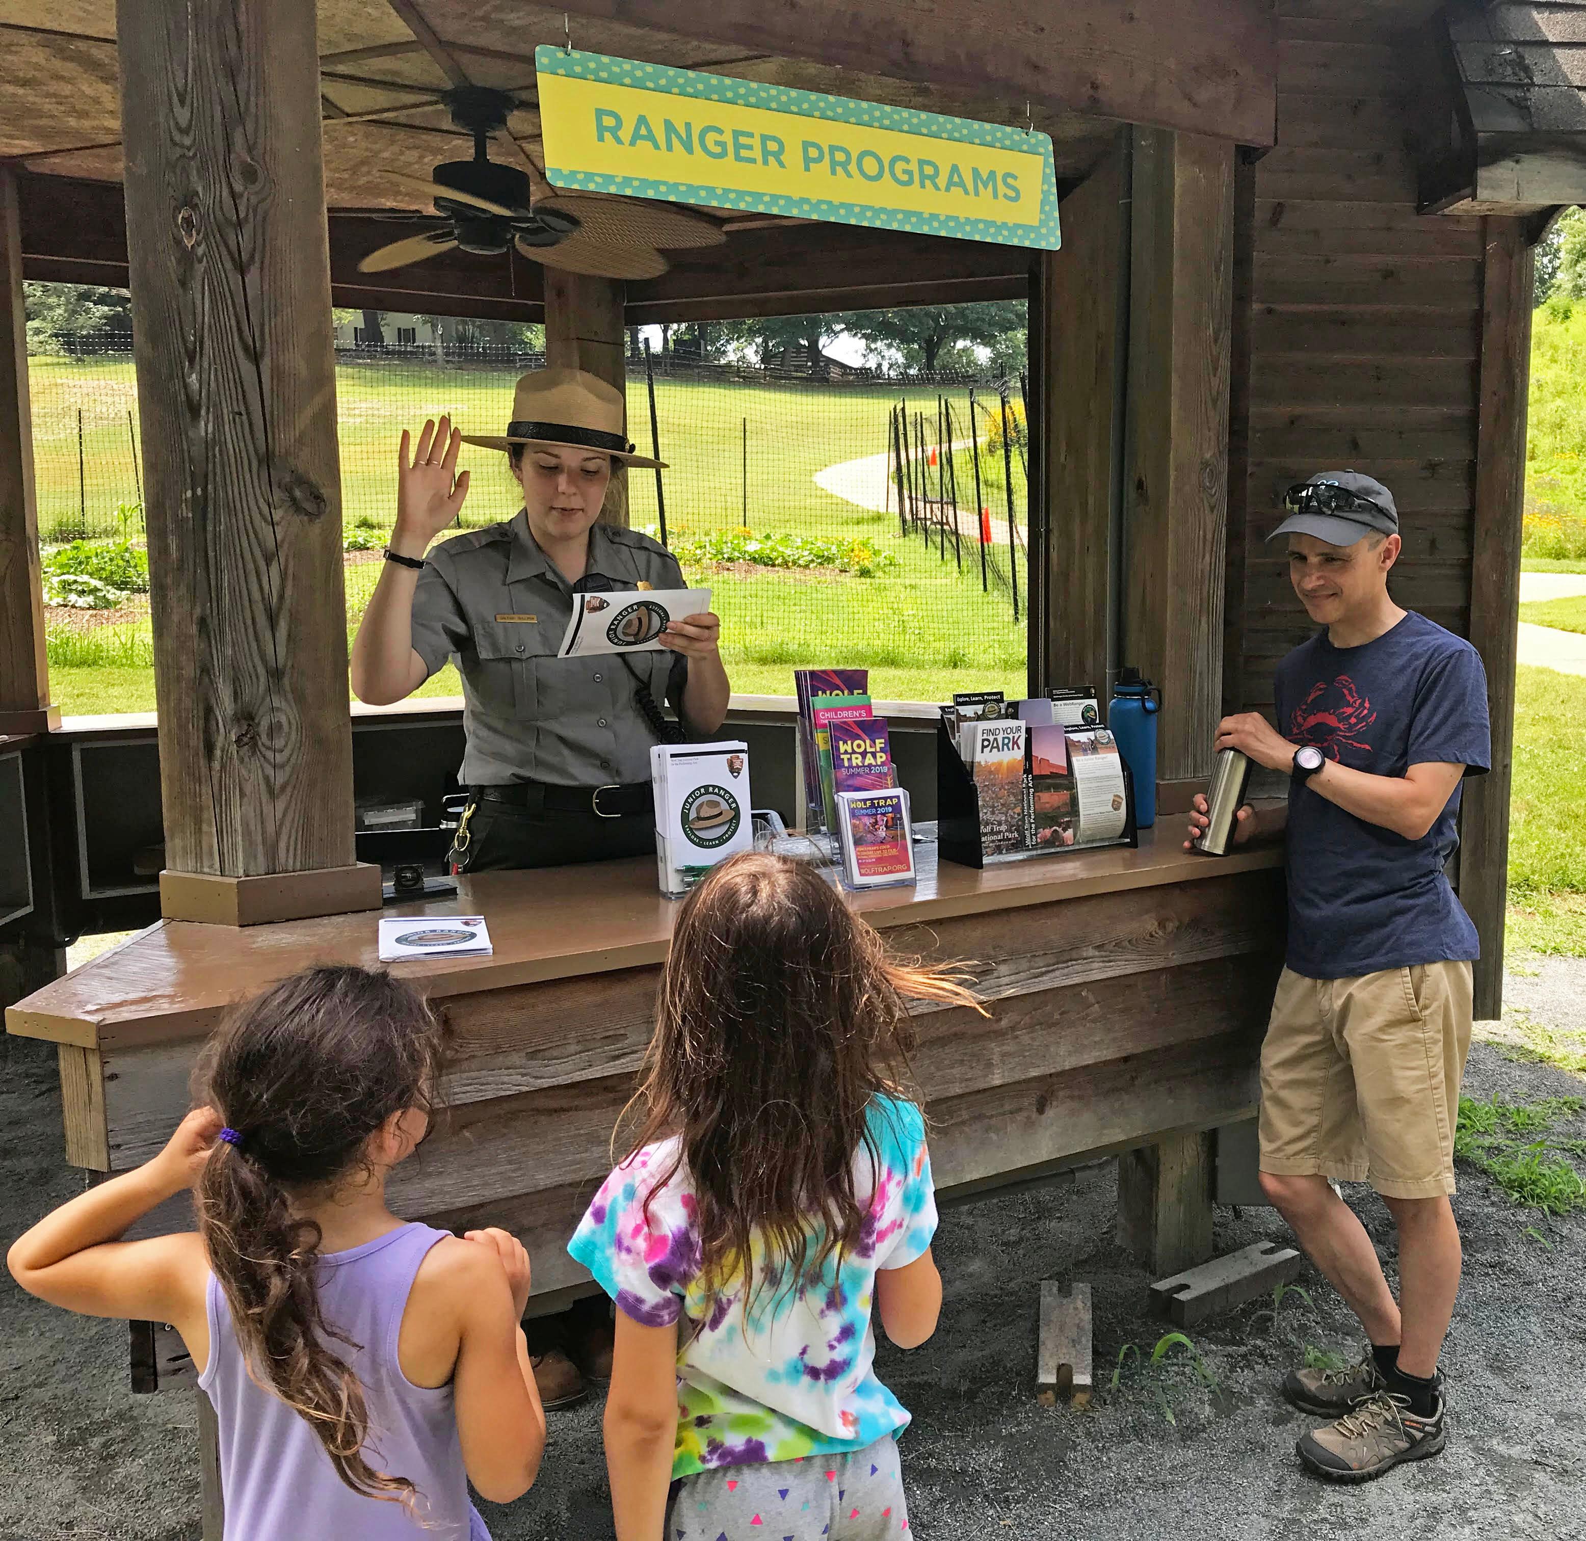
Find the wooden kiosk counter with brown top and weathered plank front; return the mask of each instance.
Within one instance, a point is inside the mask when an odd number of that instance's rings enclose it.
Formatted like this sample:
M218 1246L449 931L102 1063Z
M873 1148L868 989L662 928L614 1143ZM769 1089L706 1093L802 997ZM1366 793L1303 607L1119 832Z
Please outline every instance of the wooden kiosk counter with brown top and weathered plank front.
M1124 1162L1121 1208L1164 1265L1210 1254L1201 1130L1251 1110L1283 935L1281 851L1186 855L1180 829L1167 818L1139 850L982 872L937 870L921 847L917 889L853 899L893 945L972 959L991 999L990 1018L918 1016L939 1187L1155 1146ZM398 1168L392 1203L438 1226L515 1230L544 1308L587 1279L565 1243L609 1168L677 905L644 859L462 883L454 901L385 912L477 910L495 943L492 958L395 966L444 1004L457 1048L449 1113ZM162 921L13 1007L10 1032L60 1048L68 1161L124 1172L152 1156L227 1007L312 962L374 966L377 915Z

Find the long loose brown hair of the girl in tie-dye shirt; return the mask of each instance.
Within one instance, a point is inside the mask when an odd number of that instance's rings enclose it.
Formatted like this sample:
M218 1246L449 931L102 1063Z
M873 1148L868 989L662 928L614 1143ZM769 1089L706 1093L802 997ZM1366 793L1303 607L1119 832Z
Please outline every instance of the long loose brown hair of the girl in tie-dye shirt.
M688 894L633 1149L677 1137L657 1187L687 1165L706 1278L741 1267L747 1308L752 1235L777 1294L815 1284L853 1249L866 1219L855 1153L879 1159L871 1099L904 1094L906 1002L979 1008L966 978L890 956L818 872L783 856L734 856Z

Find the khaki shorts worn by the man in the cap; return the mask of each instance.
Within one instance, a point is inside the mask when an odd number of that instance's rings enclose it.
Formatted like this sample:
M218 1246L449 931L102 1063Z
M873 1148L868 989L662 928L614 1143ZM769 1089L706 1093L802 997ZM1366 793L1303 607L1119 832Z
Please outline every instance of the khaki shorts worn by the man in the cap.
M1261 1170L1451 1194L1470 1007L1467 962L1353 980L1285 969L1261 1046Z

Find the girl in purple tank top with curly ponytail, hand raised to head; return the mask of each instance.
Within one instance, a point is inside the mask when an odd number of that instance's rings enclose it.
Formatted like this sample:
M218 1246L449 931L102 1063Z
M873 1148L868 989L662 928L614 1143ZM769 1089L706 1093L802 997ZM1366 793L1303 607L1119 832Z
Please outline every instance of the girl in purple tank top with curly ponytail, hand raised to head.
M181 1332L219 1424L225 1541L488 1541L468 1484L506 1503L534 1481L528 1254L385 1206L439 1072L411 986L308 969L216 1034L154 1161L11 1248L43 1300ZM186 1187L197 1235L116 1240Z

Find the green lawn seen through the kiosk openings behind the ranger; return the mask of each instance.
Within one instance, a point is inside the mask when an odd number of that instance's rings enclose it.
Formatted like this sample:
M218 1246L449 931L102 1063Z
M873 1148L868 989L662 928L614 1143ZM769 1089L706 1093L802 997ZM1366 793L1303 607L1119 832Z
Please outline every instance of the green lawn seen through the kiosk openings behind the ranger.
M127 414L135 412L128 363L30 360L40 526L46 542L70 537L87 509L95 531L111 533L111 510L136 496ZM436 369L419 363L336 369L343 520L379 534L395 498L396 442L403 426L450 411L462 426L500 431L511 404L511 369ZM793 530L868 536L898 564L871 579L764 571L690 572L714 590L723 618L723 655L734 686L791 694L793 669L868 666L885 699L947 699L953 690L1025 688L1026 628L1006 593L980 590L979 561L964 545L960 571L948 544L936 550L898 534L893 512L858 507L817 487L814 476L842 460L887 447L890 387L810 387L657 382L668 533L672 537L736 528L757 534ZM934 393L912 406L934 414ZM630 380L630 420L649 449L644 377ZM955 393L967 419L967 392ZM82 423L79 487L78 423ZM747 458L745 458L747 445ZM517 488L504 458L465 445L474 474L465 523L509 518ZM1001 495L1001 482L996 482ZM1015 472L1015 491L1023 479ZM630 517L657 523L655 476L630 476ZM1023 518L1023 507L1020 507ZM136 531L133 531L136 534ZM1006 549L1004 549L1006 552ZM1004 556L1006 564L1006 556ZM1023 564L1020 571L1023 588ZM355 623L379 574L376 563L347 569L347 615ZM1023 601L1023 595L1020 596ZM1023 612L1023 604L1021 604ZM105 629L92 640L52 637L56 696L71 713L151 710L147 621ZM141 667L106 669L106 664ZM431 682L433 686L435 682Z

